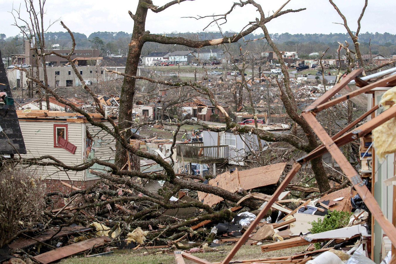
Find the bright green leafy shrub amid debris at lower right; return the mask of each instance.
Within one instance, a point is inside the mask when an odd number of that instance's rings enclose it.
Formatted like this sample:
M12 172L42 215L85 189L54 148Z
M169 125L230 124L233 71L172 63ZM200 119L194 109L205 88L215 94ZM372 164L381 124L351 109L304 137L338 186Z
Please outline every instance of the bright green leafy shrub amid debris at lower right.
M322 219L318 221L309 222L312 224L312 228L308 229L312 234L326 232L330 230L335 230L338 228L343 228L349 223L349 217L352 215L350 212L337 211L334 210L329 212ZM315 243L315 248L320 249L320 243Z

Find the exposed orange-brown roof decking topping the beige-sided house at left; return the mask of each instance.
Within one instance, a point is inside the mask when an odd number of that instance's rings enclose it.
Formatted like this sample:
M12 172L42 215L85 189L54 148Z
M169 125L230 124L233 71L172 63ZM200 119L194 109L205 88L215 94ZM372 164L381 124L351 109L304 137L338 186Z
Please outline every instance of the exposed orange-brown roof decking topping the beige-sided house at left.
M70 122L70 123L89 123L85 116L80 113L67 113L61 111L49 110L17 110L16 114L19 120L32 121L32 122ZM96 122L107 121L101 114L88 113L91 118ZM109 116L113 120L117 119L116 116Z

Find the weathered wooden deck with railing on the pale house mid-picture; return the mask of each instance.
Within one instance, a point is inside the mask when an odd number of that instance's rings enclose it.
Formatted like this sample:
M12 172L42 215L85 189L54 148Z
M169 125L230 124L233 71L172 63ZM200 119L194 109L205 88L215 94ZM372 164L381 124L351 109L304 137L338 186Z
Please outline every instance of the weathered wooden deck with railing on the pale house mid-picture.
M176 144L176 156L179 160L193 163L223 163L228 160L228 145L204 146L203 142Z

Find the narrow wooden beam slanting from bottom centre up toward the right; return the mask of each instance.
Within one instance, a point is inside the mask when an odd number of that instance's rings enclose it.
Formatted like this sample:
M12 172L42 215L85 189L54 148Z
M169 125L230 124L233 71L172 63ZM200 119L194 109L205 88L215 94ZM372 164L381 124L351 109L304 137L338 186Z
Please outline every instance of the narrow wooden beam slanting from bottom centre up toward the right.
M253 232L253 230L256 228L257 224L263 219L267 211L270 209L271 205L278 199L278 196L283 192L283 190L286 188L287 184L293 179L294 175L297 173L297 171L301 168L300 163L294 163L293 168L287 173L285 179L283 182L278 186L274 194L272 194L271 199L268 201L268 203L264 206L264 208L260 211L260 213L257 215L257 217L253 220L253 222L250 223L249 227L245 231L245 233L242 235L241 239L238 240L238 242L235 244L235 246L231 249L231 251L228 253L228 255L225 257L223 260L222 264L228 264L230 260L235 256L236 252L240 247L246 242L246 240L249 238L249 235Z

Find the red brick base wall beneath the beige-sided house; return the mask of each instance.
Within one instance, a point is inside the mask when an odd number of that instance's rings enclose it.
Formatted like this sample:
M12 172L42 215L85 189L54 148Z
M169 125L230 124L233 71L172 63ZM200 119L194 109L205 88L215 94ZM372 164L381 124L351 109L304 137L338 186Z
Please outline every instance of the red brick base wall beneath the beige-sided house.
M85 190L89 186L95 184L98 180L63 180L63 182L66 182L67 184L72 185L73 187L77 187L79 189ZM61 192L63 194L67 194L72 192L72 188L67 187L62 184L61 180L54 180L54 179L45 179L42 180L43 183L46 184L46 194L50 192ZM52 196L52 199L55 201L56 196ZM58 198L57 201L55 201L55 207L63 207L65 206L65 201L62 198Z

